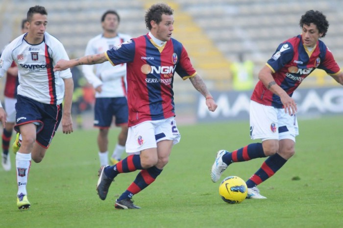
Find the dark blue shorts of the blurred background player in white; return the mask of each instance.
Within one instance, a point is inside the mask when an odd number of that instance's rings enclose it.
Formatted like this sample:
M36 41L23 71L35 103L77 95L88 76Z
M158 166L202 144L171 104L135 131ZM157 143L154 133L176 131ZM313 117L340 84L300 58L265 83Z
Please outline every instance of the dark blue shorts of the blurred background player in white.
M94 127L111 127L113 116L116 118L116 126L127 124L127 99L125 97L97 98L94 106Z

